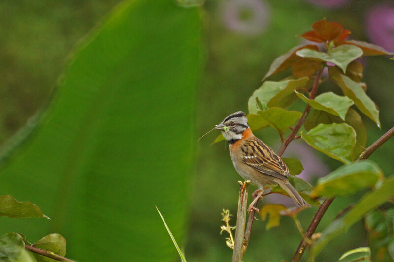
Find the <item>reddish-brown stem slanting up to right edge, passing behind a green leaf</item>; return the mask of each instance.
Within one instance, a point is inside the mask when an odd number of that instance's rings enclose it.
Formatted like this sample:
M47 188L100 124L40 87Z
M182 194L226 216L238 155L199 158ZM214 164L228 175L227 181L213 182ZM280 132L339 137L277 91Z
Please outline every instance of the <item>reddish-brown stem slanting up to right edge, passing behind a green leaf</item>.
M367 159L373 152L375 152L376 149L379 148L379 146L382 146L393 135L394 135L394 127L392 127L383 136L381 136L378 140L376 140L371 146L368 146L368 148L365 149L365 151L360 155L359 159ZM312 234L315 232L317 226L320 223L320 220L322 219L323 215L326 213L332 201L334 201L334 198L326 199L317 210L315 216L313 217L311 223L309 224L308 230L305 233L305 237L302 239L301 243L297 248L296 253L294 254L292 262L298 262L301 259L307 245L304 239L309 239L312 236Z

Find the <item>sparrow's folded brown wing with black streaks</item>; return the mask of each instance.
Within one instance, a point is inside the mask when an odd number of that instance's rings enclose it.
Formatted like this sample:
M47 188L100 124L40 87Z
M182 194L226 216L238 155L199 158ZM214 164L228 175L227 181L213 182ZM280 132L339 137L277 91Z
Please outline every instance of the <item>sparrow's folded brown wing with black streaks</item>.
M258 138L250 139L241 149L243 153L242 160L245 164L279 179L286 179L286 177L290 176L289 169L283 160Z

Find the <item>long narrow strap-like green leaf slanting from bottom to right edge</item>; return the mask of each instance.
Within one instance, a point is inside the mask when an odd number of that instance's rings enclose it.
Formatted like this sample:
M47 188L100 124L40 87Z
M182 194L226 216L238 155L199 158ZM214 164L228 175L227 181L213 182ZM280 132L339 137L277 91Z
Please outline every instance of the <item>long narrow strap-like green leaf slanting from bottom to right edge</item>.
M381 188L365 194L353 208L342 217L334 220L323 232L322 236L312 244L308 262L314 262L316 256L331 240L346 232L354 223L359 221L367 212L386 202L393 196L394 176L387 179Z

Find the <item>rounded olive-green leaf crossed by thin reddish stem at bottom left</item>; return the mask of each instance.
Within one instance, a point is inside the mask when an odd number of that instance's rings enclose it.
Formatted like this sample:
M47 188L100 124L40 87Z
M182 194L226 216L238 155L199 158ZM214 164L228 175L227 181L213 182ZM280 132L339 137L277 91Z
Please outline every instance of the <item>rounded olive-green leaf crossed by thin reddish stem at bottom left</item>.
M51 251L62 257L66 255L66 239L60 234L49 234L44 236L33 244L33 247L40 248L46 251ZM45 256L34 254L38 262L55 262L56 260L50 259Z

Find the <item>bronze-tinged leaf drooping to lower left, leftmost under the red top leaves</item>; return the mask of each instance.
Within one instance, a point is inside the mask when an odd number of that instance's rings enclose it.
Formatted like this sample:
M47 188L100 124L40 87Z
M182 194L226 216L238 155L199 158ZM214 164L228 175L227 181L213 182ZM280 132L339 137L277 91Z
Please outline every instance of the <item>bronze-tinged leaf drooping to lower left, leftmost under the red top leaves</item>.
M279 73L279 72L291 67L299 59L299 57L296 56L296 51L303 49L303 48L319 50L319 48L316 45L302 45L302 46L296 46L296 47L290 49L286 54L283 54L282 56L276 58L272 62L271 66L270 66L268 72L265 74L263 80L266 79L267 77L272 76L273 74Z

